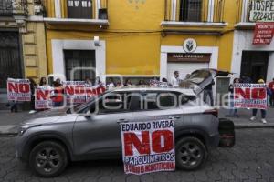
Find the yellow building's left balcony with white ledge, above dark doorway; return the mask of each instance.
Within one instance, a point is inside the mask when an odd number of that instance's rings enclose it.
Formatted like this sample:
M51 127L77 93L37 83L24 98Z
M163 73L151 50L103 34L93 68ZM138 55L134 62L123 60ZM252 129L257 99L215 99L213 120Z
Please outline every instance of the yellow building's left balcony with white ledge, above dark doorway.
M109 25L108 0L43 0L42 3L44 21L49 25Z

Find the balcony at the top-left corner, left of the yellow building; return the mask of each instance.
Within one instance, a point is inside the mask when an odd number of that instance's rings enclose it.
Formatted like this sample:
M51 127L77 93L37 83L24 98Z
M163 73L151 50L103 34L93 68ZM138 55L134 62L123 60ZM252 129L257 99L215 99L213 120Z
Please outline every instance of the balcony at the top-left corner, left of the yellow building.
M1 0L0 16L27 15L27 0Z

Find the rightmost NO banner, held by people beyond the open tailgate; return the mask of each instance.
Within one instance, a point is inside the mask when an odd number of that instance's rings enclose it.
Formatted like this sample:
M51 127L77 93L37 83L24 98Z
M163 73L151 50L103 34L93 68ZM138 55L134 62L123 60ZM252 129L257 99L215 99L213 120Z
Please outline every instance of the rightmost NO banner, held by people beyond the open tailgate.
M268 106L267 86L265 84L236 84L234 86L234 106L266 109Z

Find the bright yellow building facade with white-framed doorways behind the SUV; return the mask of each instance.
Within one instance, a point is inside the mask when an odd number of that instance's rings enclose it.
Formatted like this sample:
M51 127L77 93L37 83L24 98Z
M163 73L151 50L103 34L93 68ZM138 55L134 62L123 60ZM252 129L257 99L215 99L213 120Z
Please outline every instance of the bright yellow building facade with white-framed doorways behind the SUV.
M240 0L47 0L44 5L48 74L68 79L72 67L94 66L102 79L170 79L174 70L183 79L195 68L231 69ZM187 44L193 50L185 50ZM71 61L89 54L93 64Z

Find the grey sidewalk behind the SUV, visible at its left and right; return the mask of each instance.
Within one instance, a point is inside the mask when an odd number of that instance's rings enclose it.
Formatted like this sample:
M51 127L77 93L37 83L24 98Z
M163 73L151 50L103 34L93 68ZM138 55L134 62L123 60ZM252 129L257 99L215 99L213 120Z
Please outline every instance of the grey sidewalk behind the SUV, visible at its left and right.
M260 111L257 114L256 121L250 121L252 110L239 109L239 117L227 117L234 121L236 128L260 128L260 127L274 127L274 108L269 108L267 114L267 124L260 122ZM224 118L227 115L226 109L219 110L219 117ZM16 135L17 126L25 121L28 116L28 112L11 113L9 110L0 110L0 135Z

